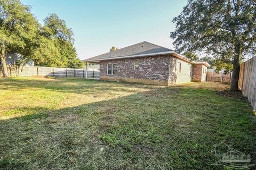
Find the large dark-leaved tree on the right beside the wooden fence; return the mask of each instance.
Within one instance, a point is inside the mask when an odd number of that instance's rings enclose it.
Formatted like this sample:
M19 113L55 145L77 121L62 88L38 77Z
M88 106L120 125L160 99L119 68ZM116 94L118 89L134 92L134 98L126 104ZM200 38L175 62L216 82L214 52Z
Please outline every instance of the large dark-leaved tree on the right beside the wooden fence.
M173 19L171 32L178 52L213 55L233 64L230 91L238 90L239 62L256 52L255 0L189 0Z

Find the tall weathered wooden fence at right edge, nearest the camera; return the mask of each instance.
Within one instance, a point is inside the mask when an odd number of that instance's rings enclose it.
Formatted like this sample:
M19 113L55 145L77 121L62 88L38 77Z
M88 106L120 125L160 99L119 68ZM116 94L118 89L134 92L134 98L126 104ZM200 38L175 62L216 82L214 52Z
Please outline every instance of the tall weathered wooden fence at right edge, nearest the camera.
M238 88L256 110L256 56L241 64Z

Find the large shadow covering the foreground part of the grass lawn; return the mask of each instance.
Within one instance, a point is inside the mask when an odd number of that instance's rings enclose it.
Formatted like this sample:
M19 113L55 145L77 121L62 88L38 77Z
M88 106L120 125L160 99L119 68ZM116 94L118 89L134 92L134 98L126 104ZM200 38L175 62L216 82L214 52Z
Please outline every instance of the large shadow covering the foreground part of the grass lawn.
M219 142L251 153L253 126L243 101L182 87L63 109L41 107L0 121L0 167L207 169L213 168L211 149Z

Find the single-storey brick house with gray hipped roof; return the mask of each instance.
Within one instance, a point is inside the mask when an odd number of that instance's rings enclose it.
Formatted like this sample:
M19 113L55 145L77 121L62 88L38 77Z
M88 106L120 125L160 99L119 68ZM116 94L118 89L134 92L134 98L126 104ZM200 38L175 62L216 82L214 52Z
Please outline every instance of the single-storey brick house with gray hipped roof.
M210 66L206 62L190 62L174 50L146 41L88 58L83 62L99 63L101 80L121 80L166 86L187 83L191 80L205 81L204 74Z

